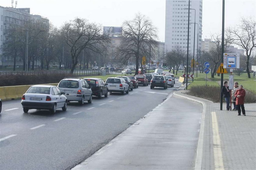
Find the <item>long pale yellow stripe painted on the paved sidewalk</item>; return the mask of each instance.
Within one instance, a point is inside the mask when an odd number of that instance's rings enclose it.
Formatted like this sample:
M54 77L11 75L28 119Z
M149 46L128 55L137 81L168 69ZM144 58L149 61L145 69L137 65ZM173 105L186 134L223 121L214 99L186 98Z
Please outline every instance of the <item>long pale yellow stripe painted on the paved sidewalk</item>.
M221 142L219 136L219 126L216 112L212 113L212 141L213 141L213 158L214 169L224 169L223 156L221 151Z

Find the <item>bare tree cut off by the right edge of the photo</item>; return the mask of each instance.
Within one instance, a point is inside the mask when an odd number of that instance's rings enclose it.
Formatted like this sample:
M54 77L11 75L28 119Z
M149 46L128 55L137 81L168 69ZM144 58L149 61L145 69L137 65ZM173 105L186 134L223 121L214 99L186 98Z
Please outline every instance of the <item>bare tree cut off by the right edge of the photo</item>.
M248 78L251 78L249 70L249 61L252 50L256 47L256 21L252 18L241 19L240 25L227 29L227 32L231 34L233 43L243 48L246 52L246 72Z

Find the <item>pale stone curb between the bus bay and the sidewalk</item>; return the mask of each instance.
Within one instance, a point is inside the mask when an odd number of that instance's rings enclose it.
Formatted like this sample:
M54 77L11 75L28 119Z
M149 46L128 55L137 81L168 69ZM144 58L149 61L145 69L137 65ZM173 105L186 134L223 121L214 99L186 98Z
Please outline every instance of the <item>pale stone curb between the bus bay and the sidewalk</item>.
M204 141L204 124L205 124L205 113L206 113L206 104L203 101L200 101L198 98L197 99L193 99L191 97L189 97L189 95L185 95L185 94L177 94L177 93L181 93L180 92L173 92L173 95L185 98L187 100L192 100L194 102L198 102L201 103L203 105L203 112L202 112L202 116L201 116L201 126L200 126L200 132L199 132L199 137L198 137L198 144L197 144L197 154L196 154L196 160L195 160L195 170L201 170L202 168L202 155L203 155L203 141ZM195 97L197 98L197 97ZM201 99L202 100L202 99ZM205 100L205 99L203 99ZM208 102L212 102L207 100ZM213 103L213 102L212 102Z

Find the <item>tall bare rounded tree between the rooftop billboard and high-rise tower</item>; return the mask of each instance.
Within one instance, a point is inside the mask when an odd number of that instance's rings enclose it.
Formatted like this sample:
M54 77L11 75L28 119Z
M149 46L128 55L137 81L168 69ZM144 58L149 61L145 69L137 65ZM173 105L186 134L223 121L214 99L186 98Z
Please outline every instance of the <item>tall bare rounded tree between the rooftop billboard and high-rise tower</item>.
M148 47L157 46L156 33L156 27L146 16L140 13L133 20L124 21L123 40L117 48L117 55L122 57L123 63L126 63L130 58L135 58L135 74L138 74L141 58L151 53Z

